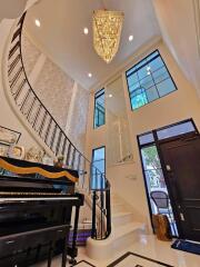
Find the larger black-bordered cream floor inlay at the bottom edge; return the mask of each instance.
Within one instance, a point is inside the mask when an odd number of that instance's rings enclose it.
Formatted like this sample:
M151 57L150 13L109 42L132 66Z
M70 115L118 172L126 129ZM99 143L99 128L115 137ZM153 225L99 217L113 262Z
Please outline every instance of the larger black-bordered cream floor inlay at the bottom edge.
M114 260L108 267L173 267L156 259L144 257L142 255L127 253L119 259Z

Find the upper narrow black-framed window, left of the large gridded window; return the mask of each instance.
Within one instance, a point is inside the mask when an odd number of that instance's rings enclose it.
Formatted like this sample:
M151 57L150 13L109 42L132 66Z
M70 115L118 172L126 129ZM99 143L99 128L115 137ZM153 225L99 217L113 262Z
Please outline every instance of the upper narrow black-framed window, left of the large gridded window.
M104 89L94 97L94 128L104 125Z

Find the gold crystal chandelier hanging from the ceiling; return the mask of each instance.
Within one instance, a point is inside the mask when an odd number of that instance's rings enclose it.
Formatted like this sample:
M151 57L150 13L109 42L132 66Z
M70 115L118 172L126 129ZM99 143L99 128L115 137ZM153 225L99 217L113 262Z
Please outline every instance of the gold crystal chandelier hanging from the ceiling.
M93 47L107 63L118 52L123 17L121 11L93 11Z

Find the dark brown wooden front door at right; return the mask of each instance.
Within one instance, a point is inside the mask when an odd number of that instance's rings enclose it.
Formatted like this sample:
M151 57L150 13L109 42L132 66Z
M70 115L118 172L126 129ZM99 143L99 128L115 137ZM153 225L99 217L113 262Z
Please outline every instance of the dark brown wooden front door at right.
M160 144L181 238L200 241L200 137Z

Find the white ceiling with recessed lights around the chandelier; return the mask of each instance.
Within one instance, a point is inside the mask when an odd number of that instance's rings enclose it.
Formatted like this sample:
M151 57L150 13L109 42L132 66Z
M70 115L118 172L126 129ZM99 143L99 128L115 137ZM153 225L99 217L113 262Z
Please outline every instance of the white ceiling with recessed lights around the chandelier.
M122 10L124 23L117 57L103 62L92 47L92 11L102 9L102 0L41 0L26 19L26 29L34 43L84 88L112 73L139 47L160 36L151 0L104 0L107 9ZM34 19L41 27L34 26ZM83 27L89 34L83 34ZM133 34L132 42L128 41ZM88 73L92 78L88 78Z

